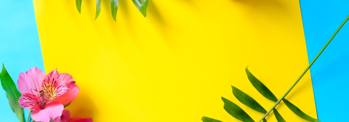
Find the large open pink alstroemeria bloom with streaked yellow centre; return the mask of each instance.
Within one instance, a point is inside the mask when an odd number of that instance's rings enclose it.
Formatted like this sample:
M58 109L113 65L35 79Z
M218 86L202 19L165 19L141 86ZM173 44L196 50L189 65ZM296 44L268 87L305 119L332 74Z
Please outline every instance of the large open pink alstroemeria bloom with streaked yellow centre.
M17 80L22 96L20 106L33 110L31 118L37 122L49 122L62 115L64 105L72 102L79 93L73 77L67 73L59 74L57 68L45 75L33 67L21 73Z

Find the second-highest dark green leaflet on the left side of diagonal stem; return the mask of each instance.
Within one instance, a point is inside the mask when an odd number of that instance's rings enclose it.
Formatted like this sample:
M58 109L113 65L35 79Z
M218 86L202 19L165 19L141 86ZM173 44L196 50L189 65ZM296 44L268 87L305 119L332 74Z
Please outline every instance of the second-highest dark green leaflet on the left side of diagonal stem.
M267 110L265 110L257 101L255 101L252 97L248 96L243 91L239 90L238 88L231 86L231 89L233 90L233 94L242 104L252 108L253 110L256 110L257 112L261 113L267 113Z

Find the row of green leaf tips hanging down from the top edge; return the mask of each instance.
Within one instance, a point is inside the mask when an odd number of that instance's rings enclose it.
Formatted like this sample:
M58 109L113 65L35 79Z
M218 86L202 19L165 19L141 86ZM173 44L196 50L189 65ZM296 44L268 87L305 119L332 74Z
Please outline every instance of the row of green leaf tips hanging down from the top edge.
M82 2L82 0L75 0L76 8L80 14L81 14L81 2ZM146 17L148 0L132 0L132 2L137 7L139 12L141 12L141 14L144 17ZM119 0L110 0L111 15L112 15L114 21L116 21L116 13L118 12L118 6L119 6ZM101 13L101 0L96 0L95 20L98 18L99 13Z

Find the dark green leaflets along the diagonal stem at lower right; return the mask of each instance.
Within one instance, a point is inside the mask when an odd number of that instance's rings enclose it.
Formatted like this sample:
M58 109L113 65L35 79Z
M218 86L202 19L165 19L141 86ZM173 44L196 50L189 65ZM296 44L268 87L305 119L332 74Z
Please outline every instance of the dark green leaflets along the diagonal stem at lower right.
M265 98L272 100L274 102L277 102L277 98L275 95L265 86L262 82L260 82L256 77L252 75L250 71L246 68L246 74L248 79L250 80L251 84L259 91L260 94L262 94ZM236 99L238 99L242 104L246 105L247 107L252 108L253 110L256 110L261 113L267 113L267 111L252 97L248 96L245 92L237 89L234 86L231 86L232 92ZM225 99L222 97L222 100L224 102L224 109L227 111L231 116L235 117L238 120L244 121L244 122L254 122L253 119L238 105L234 104L233 102L229 101L228 99ZM312 122L321 122L317 119L314 119L310 117L309 115L306 115L304 112L302 112L298 107L291 104L291 102L287 101L286 99L283 99L285 104L288 108L291 109L292 112L294 112L296 115L301 117L304 120L312 121ZM282 118L279 112L274 108L273 109L274 115L276 117L276 120L278 122L285 122L285 120ZM208 118L208 117L206 117ZM214 120L214 119L212 119ZM204 122L215 122L215 121L209 121L205 120ZM218 121L220 122L220 121ZM263 122L267 122L265 118L263 118Z

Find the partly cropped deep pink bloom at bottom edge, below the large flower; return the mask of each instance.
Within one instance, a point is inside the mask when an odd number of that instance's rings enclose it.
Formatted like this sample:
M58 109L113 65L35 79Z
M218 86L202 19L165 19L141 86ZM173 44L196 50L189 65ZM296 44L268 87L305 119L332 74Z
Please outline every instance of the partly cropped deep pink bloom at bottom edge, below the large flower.
M63 110L62 115L56 117L53 122L93 122L92 118L70 118L69 110Z

